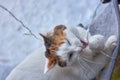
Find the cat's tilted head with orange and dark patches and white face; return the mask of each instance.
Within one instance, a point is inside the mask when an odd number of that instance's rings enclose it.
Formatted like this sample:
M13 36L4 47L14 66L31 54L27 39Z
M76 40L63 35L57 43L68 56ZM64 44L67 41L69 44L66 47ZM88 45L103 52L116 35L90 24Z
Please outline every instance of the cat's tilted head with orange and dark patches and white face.
M47 35L40 34L43 37L46 48L44 73L56 65L67 67L71 64L71 60L74 62L73 57L81 50L80 40L70 33L70 31L65 31L66 28L64 25L58 25L52 33Z

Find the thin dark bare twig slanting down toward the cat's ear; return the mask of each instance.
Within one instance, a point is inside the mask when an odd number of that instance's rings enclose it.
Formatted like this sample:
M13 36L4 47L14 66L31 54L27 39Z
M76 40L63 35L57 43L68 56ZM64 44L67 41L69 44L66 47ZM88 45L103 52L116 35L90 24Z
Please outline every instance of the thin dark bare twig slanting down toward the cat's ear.
M2 9L4 9L5 11L7 11L16 21L18 21L25 29L27 29L29 31L29 35L32 35L34 38L36 39L39 39L34 33L32 33L32 31L25 26L25 24L20 20L18 19L10 10L8 10L6 7L4 7L3 5L0 4L0 7Z

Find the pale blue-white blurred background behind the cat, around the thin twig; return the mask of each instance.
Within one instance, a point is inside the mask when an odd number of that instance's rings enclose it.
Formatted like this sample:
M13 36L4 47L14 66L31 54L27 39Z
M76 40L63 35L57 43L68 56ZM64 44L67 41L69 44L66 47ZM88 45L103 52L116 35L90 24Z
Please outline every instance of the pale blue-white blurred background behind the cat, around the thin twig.
M32 32L45 33L58 24L88 24L99 0L0 0ZM43 44L0 8L0 80ZM41 38L40 38L41 39Z

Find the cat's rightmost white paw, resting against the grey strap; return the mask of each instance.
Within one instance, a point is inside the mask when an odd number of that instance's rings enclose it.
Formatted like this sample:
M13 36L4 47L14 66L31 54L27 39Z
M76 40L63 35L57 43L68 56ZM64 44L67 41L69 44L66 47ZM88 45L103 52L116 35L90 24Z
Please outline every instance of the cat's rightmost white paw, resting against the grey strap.
M108 40L105 43L105 50L112 51L116 45L117 45L117 37L115 35L112 35L108 38Z

